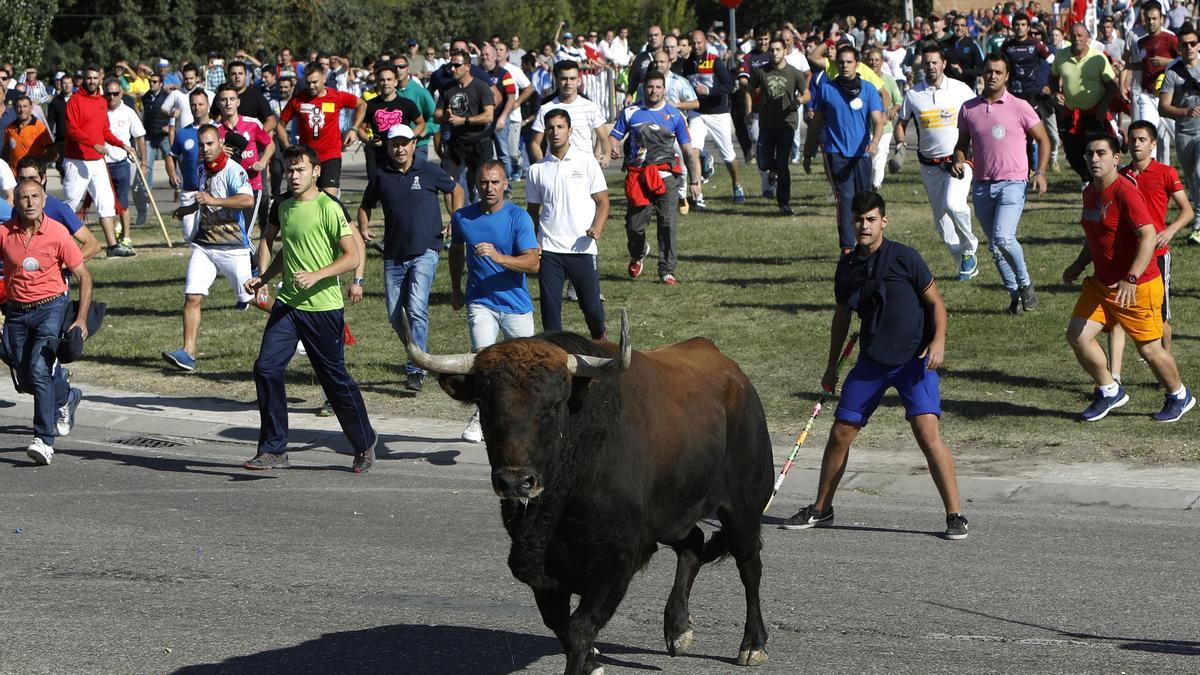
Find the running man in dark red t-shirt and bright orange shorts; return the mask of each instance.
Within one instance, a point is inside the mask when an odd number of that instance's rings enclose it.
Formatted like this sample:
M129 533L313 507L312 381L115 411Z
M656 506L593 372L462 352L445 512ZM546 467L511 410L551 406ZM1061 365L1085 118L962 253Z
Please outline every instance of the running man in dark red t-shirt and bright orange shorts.
M1084 159L1092 174L1092 183L1084 189L1080 222L1086 243L1062 273L1062 280L1070 283L1088 263L1093 268L1067 327L1067 342L1096 381L1096 399L1082 419L1097 422L1129 402L1096 340L1104 328L1120 325L1166 389L1166 401L1154 420L1176 422L1196 400L1180 380L1175 357L1163 348L1163 277L1154 259L1154 217L1138 185L1117 172L1121 142L1115 136L1091 137Z

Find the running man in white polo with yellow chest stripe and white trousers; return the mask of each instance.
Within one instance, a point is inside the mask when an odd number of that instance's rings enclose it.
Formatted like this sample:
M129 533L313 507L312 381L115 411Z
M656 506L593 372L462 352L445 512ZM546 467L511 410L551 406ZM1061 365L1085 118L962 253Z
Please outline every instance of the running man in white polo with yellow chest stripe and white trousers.
M954 178L948 169L953 165L954 145L959 141L959 108L974 98L974 91L953 77L946 77L946 60L941 46L929 41L922 46L925 82L905 94L900 118L896 120L896 148L905 144L905 127L908 120L917 120L917 159L920 162L920 179L934 208L934 227L954 257L959 269L959 281L968 281L979 274L976 250L979 240L971 232L971 165L964 165L965 175Z

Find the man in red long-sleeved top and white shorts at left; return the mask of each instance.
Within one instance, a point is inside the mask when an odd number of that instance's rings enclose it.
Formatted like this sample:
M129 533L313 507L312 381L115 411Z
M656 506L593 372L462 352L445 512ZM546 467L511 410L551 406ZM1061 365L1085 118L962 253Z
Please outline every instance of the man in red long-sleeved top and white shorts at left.
M136 155L133 147L113 135L108 126L108 101L100 92L100 67L83 70L83 88L67 101L67 138L62 147L62 191L67 205L78 211L83 196L91 195L100 213L108 257L132 256L133 249L116 240L116 197L108 177L104 143Z

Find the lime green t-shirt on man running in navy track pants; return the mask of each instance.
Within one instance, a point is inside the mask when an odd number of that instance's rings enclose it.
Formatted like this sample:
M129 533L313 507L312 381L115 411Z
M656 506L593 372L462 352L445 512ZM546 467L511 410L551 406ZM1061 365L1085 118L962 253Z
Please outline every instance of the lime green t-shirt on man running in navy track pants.
M308 312L344 307L336 276L322 279L312 288L296 288L298 271L317 271L342 255L338 240L350 237L350 223L336 199L318 192L314 199L294 197L280 204L280 239L283 241L283 289L280 301Z

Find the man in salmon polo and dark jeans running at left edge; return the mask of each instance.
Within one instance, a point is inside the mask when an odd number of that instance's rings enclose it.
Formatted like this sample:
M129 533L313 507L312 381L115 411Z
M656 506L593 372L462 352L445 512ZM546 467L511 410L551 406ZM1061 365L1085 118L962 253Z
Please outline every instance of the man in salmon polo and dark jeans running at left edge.
M54 456L54 438L74 424L82 394L71 387L55 350L71 297L62 269L79 286L79 304L71 331L88 336L91 275L67 228L44 213L46 189L22 179L16 190L13 217L0 226L0 259L8 300L5 304L0 358L16 374L17 390L34 395L34 442L26 454L47 465Z

